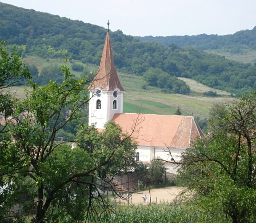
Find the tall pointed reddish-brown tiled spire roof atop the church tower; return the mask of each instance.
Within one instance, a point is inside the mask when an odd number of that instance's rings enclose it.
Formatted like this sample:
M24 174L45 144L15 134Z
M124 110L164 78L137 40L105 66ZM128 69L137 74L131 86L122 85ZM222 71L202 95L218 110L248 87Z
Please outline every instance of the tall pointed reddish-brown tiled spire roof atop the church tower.
M114 64L109 33L107 33L101 60L100 67L96 76L93 78L90 90L99 87L101 90L114 91L118 88L120 91L125 91L117 76L116 67Z

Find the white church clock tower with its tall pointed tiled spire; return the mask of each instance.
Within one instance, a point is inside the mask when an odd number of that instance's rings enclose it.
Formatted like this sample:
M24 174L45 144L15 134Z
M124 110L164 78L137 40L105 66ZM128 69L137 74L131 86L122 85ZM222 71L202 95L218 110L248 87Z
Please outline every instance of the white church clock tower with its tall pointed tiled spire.
M89 125L95 123L96 128L103 129L115 113L123 113L124 91L117 76L108 32L100 67L89 87Z

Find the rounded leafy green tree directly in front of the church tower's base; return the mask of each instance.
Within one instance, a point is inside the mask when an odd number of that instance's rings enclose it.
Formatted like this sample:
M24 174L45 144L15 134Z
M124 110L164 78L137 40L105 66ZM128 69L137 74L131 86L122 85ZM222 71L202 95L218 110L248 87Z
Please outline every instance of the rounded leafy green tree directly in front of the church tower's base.
M99 132L94 126L84 124L77 133L77 144L90 154L94 162L107 161L107 165L97 169L102 179L116 173L131 171L135 163L137 144L122 133L121 127L115 122L107 122L103 132ZM115 156L112 156L112 153Z

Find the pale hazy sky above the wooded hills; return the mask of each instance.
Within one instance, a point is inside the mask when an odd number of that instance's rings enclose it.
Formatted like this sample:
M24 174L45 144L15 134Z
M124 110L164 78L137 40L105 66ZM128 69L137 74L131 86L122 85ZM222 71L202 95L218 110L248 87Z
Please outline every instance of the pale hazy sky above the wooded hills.
M0 0L132 36L233 34L256 26L256 0Z

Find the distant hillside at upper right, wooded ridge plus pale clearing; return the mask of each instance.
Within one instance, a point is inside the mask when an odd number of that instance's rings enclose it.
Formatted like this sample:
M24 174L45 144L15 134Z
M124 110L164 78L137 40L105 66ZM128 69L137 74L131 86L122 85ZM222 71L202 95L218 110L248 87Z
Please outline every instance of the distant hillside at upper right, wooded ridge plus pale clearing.
M252 30L241 30L233 35L196 36L138 36L145 41L154 41L165 46L175 44L179 47L191 46L208 53L218 54L227 59L243 63L256 62L256 26Z

